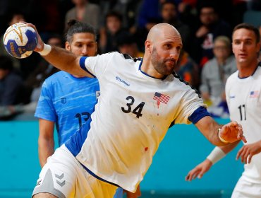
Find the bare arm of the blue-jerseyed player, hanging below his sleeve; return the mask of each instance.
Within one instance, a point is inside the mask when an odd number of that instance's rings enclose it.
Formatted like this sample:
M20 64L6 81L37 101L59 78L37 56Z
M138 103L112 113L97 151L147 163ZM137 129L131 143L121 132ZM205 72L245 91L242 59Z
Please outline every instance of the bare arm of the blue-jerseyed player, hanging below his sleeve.
M47 163L47 158L54 153L54 122L39 120L38 154L41 167Z

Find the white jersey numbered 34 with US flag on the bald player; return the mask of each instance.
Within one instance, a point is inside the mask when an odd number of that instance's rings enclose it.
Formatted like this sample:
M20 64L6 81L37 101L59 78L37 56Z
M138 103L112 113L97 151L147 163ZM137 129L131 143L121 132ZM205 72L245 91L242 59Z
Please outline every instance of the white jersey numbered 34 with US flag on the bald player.
M164 80L147 76L141 63L118 52L81 59L81 66L97 76L101 95L87 138L77 143L81 147L66 144L92 173L130 192L150 167L171 123L190 124L188 117L205 106L186 83L174 75Z

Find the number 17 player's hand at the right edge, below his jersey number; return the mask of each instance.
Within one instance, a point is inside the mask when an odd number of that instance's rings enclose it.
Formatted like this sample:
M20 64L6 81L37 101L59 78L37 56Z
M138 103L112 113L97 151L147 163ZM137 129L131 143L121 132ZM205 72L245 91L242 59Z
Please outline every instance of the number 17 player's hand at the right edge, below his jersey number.
M253 156L261 152L261 140L253 144L242 146L236 155L236 159L241 158L241 162L250 163Z

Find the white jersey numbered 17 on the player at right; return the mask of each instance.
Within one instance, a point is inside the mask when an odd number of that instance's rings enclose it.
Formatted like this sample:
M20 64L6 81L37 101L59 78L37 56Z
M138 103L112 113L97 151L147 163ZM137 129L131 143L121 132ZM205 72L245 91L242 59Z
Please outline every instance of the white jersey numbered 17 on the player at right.
M226 101L231 120L243 127L247 144L261 139L261 66L253 76L238 78L238 71L226 81ZM245 164L243 173L249 182L261 183L261 153Z

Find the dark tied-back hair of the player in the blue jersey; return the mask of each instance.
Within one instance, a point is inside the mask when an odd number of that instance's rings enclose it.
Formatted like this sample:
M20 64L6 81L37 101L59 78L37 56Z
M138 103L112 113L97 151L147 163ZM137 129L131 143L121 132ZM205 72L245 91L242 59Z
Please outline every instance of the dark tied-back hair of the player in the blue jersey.
M65 39L68 42L72 41L73 35L75 33L91 33L92 35L95 35L95 40L97 39L95 28L93 28L92 25L88 23L83 23L80 21L76 21L75 19L72 19L68 21L67 25L68 28L65 34Z

